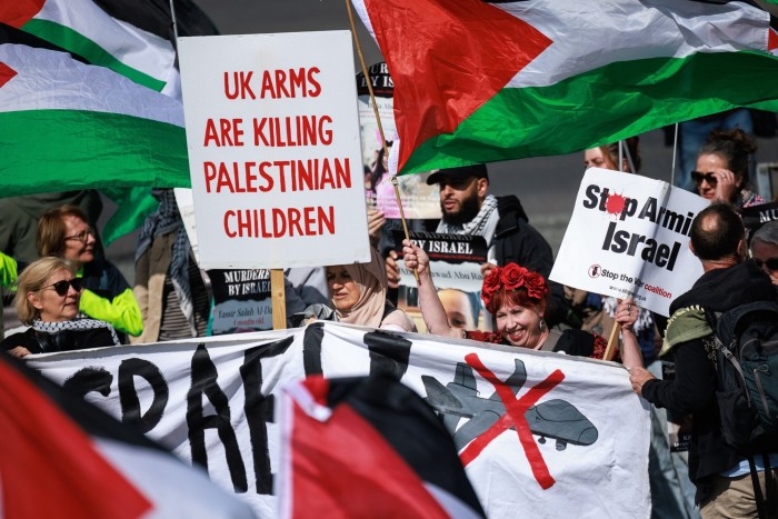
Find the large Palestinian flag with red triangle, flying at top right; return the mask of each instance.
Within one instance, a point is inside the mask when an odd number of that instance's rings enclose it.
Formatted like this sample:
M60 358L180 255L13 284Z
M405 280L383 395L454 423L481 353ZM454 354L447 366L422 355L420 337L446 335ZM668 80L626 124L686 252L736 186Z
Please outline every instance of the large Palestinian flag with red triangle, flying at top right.
M744 1L352 2L395 81L403 173L778 111L778 33Z

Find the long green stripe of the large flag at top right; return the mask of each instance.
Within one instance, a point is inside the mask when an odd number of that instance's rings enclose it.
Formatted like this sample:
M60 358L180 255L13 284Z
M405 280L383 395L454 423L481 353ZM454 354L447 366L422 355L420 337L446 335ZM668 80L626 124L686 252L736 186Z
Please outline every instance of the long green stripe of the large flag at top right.
M734 107L778 111L778 59L697 53L611 63L549 87L502 89L453 133L423 142L402 173L580 151ZM754 101L754 100L758 101ZM519 113L520 120L508 120Z

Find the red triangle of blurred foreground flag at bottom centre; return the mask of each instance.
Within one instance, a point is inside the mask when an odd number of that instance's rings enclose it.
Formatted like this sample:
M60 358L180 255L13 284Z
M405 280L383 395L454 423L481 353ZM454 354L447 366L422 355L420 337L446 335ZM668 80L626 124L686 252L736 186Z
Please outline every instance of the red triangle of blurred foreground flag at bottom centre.
M421 478L362 417L347 405L321 422L293 405L290 517L447 518Z

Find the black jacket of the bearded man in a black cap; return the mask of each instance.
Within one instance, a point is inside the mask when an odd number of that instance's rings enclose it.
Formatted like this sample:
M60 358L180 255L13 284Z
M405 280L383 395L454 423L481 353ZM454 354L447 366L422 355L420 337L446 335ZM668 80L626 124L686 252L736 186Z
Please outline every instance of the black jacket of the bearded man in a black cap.
M497 197L497 213L500 217L493 240L497 263L505 267L512 261L546 278L551 292L543 316L546 322L549 327L561 322L572 325L568 321L570 306L565 299L565 289L561 285L548 279L553 267L551 246L529 224L527 213L515 196Z

